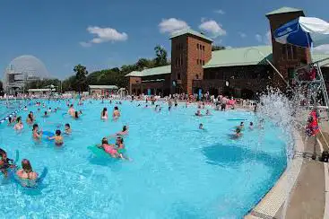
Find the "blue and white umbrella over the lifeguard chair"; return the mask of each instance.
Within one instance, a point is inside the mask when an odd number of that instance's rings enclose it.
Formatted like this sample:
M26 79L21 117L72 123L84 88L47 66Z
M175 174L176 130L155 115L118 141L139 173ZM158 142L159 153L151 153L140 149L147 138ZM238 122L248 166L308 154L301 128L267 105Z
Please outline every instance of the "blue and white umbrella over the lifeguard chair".
M274 31L274 39L282 44L303 48L329 44L329 22L315 17L299 17Z

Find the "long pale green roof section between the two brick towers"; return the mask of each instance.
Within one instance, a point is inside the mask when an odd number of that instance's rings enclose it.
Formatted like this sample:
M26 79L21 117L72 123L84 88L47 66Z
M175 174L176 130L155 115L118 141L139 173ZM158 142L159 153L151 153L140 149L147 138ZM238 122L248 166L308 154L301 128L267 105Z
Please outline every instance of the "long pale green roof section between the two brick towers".
M223 67L223 66L253 66L267 65L266 60L261 55L272 61L272 47L258 46L248 48L227 48L213 51L212 59L203 68Z

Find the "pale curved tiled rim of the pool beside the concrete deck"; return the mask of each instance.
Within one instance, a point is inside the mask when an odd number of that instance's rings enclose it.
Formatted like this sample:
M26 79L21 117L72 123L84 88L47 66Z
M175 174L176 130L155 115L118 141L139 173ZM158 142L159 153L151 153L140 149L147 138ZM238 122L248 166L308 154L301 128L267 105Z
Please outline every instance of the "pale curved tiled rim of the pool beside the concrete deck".
M293 131L295 151L303 152L304 143L297 130ZM288 199L301 169L303 158L294 157L280 179L275 183L262 200L245 216L246 219L273 218Z

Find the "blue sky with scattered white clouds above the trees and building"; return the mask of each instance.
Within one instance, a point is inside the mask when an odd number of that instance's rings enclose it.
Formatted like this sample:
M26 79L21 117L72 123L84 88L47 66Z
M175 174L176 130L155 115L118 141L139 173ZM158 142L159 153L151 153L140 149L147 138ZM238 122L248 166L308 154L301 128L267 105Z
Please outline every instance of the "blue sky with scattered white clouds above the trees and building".
M77 64L90 71L153 57L169 33L204 31L216 44L268 43L265 13L290 6L329 21L328 0L1 0L0 76L14 57L32 55L52 77L64 79Z

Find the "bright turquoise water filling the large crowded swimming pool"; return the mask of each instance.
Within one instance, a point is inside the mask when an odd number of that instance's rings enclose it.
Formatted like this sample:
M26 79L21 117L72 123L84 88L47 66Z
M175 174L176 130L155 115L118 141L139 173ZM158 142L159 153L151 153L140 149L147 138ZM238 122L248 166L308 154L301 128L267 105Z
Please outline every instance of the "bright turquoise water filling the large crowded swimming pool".
M22 133L0 126L0 144L10 157L18 150L20 160L28 158L34 171L48 168L35 189L0 176L0 218L241 218L286 166L285 137L270 123L245 130L238 141L229 139L239 121L228 119L255 121L251 112L212 111L211 117L196 118L195 107L169 112L163 104L157 113L124 102L118 106L122 117L104 122L100 110L106 106L110 115L114 104L75 105L84 115L74 120L63 116L65 101L46 103L62 110L41 118L42 112L29 107L39 127L54 132L70 123L73 135L60 148L45 140L35 143L25 111L20 113ZM87 149L123 125L129 126L125 145L133 161L98 158Z

